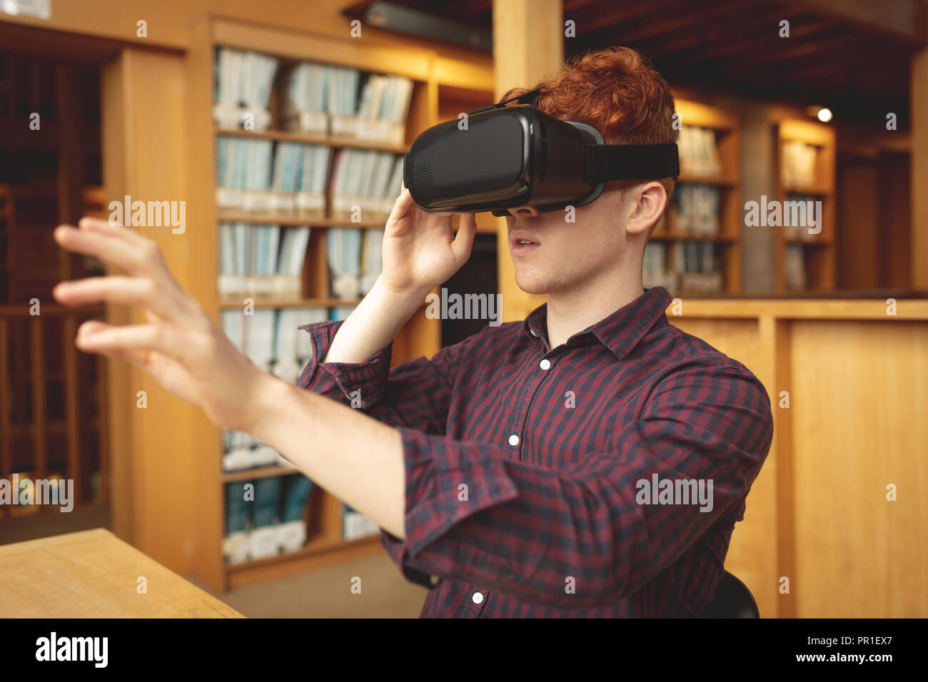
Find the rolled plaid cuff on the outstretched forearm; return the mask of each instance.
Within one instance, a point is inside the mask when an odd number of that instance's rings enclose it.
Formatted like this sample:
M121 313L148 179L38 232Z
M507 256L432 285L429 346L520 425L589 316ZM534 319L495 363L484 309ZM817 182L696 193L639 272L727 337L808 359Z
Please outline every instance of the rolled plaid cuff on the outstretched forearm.
M382 531L380 540L406 578L426 587L438 581L434 573L455 573L452 543L441 538L477 512L515 498L516 483L505 460L487 444L453 441L400 428L406 467L406 540Z

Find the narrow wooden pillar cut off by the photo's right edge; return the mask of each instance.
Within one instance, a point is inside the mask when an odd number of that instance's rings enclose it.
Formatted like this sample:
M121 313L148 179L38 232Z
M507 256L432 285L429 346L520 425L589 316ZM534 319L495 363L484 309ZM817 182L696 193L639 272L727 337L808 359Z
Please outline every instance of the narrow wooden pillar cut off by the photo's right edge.
M928 290L928 48L912 58L911 68L911 286Z

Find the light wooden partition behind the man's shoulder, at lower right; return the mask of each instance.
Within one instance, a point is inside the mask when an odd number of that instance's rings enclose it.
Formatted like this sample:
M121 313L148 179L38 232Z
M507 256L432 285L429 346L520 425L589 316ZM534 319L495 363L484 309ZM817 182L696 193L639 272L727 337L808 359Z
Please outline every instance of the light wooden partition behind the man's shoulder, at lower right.
M928 302L680 305L671 323L754 371L773 407L726 561L762 617L928 616Z

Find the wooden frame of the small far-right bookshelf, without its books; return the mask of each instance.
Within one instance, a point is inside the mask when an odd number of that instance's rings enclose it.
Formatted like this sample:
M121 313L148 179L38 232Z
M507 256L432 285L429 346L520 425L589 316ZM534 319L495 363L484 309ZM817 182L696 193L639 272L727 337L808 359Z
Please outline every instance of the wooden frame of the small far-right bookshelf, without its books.
M776 149L776 187L780 205L795 196L807 196L821 201L821 232L808 234L800 228L800 237L790 236L785 227L774 227L776 231L776 274L778 291L791 289L787 276L787 249L799 245L802 249L805 269L805 291L831 291L835 288L835 167L836 135L830 125L792 118L788 113L775 109L774 145ZM785 147L799 142L815 149L814 178L811 183L786 182L783 178Z

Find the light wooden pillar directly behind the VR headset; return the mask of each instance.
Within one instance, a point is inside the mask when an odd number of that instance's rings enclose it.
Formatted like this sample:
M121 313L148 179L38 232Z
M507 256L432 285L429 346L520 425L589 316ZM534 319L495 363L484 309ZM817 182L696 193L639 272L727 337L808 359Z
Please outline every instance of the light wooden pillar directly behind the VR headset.
M512 87L532 87L561 68L564 22L561 0L493 1L493 75L496 100ZM545 302L516 286L506 219L496 232L503 322L519 320Z

